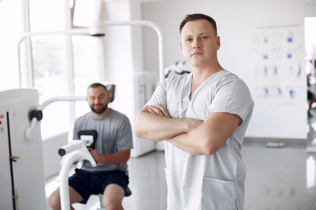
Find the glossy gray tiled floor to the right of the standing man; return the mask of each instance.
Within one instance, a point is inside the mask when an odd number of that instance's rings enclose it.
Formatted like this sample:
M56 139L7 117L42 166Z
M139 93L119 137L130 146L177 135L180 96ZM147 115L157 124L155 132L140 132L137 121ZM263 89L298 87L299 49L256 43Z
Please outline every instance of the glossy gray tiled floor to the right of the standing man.
M304 210L306 148L244 146L246 210Z

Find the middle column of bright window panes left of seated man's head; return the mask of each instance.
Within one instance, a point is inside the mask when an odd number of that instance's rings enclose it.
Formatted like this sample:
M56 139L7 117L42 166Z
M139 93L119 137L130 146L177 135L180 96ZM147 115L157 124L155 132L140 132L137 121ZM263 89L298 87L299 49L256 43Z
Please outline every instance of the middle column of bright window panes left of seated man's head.
M64 0L29 0L31 32L65 29ZM33 86L40 104L49 98L68 94L65 63L65 35L32 36ZM43 110L42 138L69 130L68 102L55 102Z

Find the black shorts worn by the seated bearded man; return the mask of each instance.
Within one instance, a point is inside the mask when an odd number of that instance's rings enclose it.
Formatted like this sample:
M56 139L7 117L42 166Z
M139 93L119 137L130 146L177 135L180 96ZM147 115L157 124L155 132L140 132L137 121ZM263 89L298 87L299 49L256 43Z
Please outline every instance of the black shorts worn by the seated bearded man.
M124 171L87 172L76 169L69 177L69 186L74 188L83 198L80 203L87 203L90 195L102 194L108 184L118 184L125 189L129 183Z

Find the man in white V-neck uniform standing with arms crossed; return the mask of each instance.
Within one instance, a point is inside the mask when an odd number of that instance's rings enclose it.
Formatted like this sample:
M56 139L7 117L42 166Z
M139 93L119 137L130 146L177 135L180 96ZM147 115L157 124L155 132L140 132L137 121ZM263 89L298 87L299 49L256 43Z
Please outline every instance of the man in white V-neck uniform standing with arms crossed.
M180 46L193 72L167 78L138 112L138 137L165 142L168 210L243 210L241 147L253 100L219 64L216 22L185 16Z

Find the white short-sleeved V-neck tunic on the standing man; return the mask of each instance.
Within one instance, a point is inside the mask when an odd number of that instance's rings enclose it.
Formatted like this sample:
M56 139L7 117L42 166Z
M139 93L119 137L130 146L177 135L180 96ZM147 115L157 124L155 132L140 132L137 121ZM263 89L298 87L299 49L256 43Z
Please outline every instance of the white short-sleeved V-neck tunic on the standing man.
M237 114L242 122L213 155L192 155L165 142L168 210L243 210L246 169L241 146L253 100L247 85L223 70L190 97L192 73L167 78L147 105L161 103L172 118L204 121L209 112Z

